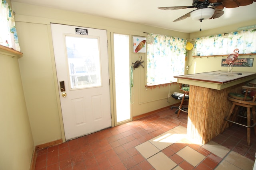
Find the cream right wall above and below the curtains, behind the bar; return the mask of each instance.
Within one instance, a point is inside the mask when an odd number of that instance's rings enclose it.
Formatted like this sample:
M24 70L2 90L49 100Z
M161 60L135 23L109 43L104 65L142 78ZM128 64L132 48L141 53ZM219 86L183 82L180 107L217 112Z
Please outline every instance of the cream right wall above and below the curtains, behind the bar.
M193 41L194 38L204 37L208 35L215 35L219 33L228 33L232 31L237 31L239 27L245 27L250 25L256 25L256 20L246 21L239 24L228 25L226 27L220 27L218 29L211 29L207 31L201 31L190 34L190 41ZM189 52L188 62L188 74L194 74L199 72L208 72L208 71L216 71L216 70L224 70L228 72L227 67L221 66L222 59L226 59L227 56L224 57L202 57L202 58L192 58L191 51ZM256 71L256 55L251 56L240 56L240 58L253 58L254 64L252 67L233 67L232 71L248 71L255 72Z

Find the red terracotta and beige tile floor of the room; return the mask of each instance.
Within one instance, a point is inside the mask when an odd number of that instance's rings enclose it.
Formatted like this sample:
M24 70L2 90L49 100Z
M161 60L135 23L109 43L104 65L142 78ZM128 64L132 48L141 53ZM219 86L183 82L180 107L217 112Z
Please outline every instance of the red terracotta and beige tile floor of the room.
M166 109L38 150L36 170L252 170L256 137L233 125L206 145L186 137L187 114ZM254 131L252 130L252 133Z

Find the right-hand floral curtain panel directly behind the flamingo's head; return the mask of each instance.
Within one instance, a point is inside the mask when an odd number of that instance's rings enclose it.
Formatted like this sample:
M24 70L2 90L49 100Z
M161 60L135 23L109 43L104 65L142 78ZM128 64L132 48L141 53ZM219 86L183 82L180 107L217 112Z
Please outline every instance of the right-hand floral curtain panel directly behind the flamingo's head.
M227 54L238 48L240 54L256 53L256 29L246 29L228 34Z

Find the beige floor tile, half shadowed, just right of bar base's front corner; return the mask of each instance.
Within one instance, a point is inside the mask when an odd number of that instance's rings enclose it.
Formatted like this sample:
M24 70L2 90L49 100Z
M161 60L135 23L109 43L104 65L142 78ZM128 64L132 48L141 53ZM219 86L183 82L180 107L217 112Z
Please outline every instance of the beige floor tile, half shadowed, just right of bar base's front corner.
M206 145L202 147L221 158L224 158L224 156L226 156L226 154L228 154L228 152L230 151L230 149L227 149L226 147L223 147L213 141L208 142Z

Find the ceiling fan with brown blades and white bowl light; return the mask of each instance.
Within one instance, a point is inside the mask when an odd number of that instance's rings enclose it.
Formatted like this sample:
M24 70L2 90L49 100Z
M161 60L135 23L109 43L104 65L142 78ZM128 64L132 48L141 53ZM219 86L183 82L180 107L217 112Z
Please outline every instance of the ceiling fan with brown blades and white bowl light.
M160 10L179 10L186 8L197 8L190 11L187 14L177 18L173 22L184 20L188 17L192 17L194 20L206 20L219 18L224 14L223 8L236 8L239 6L250 5L256 0L193 0L192 6L170 6L159 7Z

